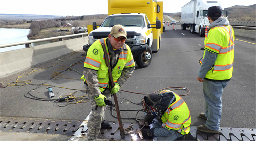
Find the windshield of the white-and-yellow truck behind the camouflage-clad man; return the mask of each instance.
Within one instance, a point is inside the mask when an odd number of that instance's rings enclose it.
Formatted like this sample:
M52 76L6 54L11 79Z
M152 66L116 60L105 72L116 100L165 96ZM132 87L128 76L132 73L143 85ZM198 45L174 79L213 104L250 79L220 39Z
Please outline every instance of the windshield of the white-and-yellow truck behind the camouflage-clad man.
M142 15L109 16L105 19L101 27L112 27L116 24L121 24L123 26L145 27Z

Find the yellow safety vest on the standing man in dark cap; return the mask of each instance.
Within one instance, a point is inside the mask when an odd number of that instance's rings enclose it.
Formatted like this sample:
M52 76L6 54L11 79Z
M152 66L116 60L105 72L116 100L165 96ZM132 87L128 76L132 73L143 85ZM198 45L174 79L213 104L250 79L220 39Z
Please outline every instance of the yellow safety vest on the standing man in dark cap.
M208 38L210 37L210 38ZM205 51L218 54L215 63L205 78L212 80L229 80L233 74L234 31L230 25L215 26L205 36ZM203 58L204 58L203 55ZM199 61L202 65L203 58Z

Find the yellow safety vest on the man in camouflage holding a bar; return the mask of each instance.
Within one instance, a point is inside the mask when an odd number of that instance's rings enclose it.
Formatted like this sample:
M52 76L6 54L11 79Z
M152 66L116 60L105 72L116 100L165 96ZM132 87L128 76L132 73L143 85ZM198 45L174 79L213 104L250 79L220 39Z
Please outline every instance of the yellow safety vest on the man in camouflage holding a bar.
M101 92L105 90L105 88L109 88L109 74L108 74L108 66L105 63L105 55L104 50L101 44L105 45L106 50L109 55L108 46L106 45L106 39L102 38L95 41L87 51L86 60L84 61L84 67L97 70L98 81L99 81L99 89ZM110 61L110 56L108 56ZM117 64L112 69L112 77L114 83L116 83L117 79L121 76L123 68L134 67L135 63L133 60L133 55L131 49L128 45L124 44L123 52L118 54ZM84 76L81 77L86 82Z

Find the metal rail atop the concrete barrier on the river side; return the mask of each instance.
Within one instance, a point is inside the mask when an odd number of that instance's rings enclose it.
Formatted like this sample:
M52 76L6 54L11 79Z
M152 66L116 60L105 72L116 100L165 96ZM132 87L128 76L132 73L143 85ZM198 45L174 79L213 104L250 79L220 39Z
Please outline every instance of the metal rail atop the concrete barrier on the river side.
M0 48L11 47L11 46L16 46L16 45L23 45L23 44L25 44L26 47L30 47L29 45L31 43L42 42L42 41L49 41L49 40L54 40L54 39L62 39L62 40L64 40L63 38L75 37L75 36L82 36L83 37L83 36L87 36L87 35L88 35L88 33L78 33L78 34L50 37L50 38L44 38L44 39L35 39L35 40L24 41L24 42L17 42L17 43L11 43L11 44L3 44L3 45L0 45Z

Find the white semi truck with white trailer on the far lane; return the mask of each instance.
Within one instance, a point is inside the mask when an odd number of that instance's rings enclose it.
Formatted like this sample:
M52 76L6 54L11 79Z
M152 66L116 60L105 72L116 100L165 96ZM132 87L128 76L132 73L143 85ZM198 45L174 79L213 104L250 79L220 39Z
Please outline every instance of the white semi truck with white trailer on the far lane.
M207 13L211 6L223 9L219 0L192 0L181 7L181 30L189 28L190 33L196 32L199 36L204 36L205 28L210 25Z

